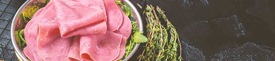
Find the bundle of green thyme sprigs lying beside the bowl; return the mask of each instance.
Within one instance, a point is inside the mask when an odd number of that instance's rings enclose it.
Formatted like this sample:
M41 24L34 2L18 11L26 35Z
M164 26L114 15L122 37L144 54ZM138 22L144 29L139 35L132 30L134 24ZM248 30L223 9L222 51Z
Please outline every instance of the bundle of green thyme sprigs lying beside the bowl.
M140 6L140 5L139 5ZM140 6L141 7L141 6ZM175 27L168 21L165 16L164 11L161 10L157 6L157 11L159 13L159 17L167 22L167 28L163 27L160 23L160 18L156 15L156 11L152 5L147 5L147 11L143 13L146 15L147 22L147 32L148 32L148 40L145 46L144 51L139 56L139 60L145 61L176 61L182 60L181 58L181 49L180 56L178 56L177 48L180 45L178 33L176 32ZM152 13L153 12L153 13ZM171 39L168 41L167 30L170 30ZM178 40L178 42L177 42ZM180 45L181 47L181 45ZM145 52L146 51L146 52ZM145 56L144 56L145 54Z

